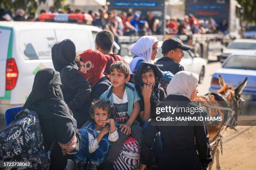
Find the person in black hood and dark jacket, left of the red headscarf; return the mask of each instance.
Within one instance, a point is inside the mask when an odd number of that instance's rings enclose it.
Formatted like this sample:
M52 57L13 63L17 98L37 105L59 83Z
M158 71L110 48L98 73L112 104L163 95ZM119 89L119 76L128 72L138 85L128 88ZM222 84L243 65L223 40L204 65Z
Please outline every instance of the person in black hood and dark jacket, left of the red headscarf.
M60 73L64 101L77 120L77 128L81 128L89 117L89 115L84 115L86 114L84 105L91 87L89 82L77 72L78 67L74 63L75 57L76 47L72 40L65 39L57 42L51 49L54 69Z

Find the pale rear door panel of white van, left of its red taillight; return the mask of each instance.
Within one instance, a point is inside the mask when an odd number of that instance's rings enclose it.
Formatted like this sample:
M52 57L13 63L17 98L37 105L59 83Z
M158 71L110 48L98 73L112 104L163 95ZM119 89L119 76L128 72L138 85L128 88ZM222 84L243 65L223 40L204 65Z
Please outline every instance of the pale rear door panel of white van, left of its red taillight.
M10 29L4 29L0 27L0 99L5 97L5 69L6 69L6 60L8 57L8 47L10 41ZM10 45L11 47L12 45ZM9 49L12 50L12 49Z

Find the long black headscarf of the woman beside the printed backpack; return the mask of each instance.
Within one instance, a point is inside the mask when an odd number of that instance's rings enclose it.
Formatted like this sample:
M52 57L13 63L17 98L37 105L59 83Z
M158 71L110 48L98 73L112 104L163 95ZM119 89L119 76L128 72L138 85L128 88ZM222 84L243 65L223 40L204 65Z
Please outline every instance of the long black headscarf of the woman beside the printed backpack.
M32 91L22 110L29 108L44 119L71 120L69 109L64 102L60 89L59 73L51 68L39 70L36 73Z

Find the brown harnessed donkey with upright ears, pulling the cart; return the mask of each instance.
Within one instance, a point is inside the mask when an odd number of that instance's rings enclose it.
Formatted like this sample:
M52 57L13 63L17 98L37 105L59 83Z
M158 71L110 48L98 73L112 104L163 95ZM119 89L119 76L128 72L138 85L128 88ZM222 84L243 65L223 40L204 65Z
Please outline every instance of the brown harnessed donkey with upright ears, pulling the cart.
M215 117L215 116L221 116L224 119L220 123L220 125L215 126L207 126L207 131L210 138L210 148L211 148L211 155L214 159L215 153L216 153L216 168L217 170L220 170L220 161L219 161L219 154L220 151L218 149L218 144L221 144L221 152L222 152L222 135L224 132L224 129L229 127L233 127L236 125L236 120L238 118L238 115L241 114L241 107L243 106L243 99L240 97L241 92L243 91L244 87L246 87L247 83L247 77L243 82L241 82L238 87L233 88L230 85L227 85L223 77L219 75L219 84L221 86L220 90L218 90L218 94L215 93L208 93L204 96L197 96L196 100L200 103L200 105L208 105L208 108L206 106L206 109L208 111L208 116ZM225 105L221 105L220 101L222 100ZM222 102L222 103L223 103ZM227 114L227 111L223 109L217 109L210 106L219 107L219 108L227 108L229 110L233 110L233 114ZM227 120L231 120L231 122L227 125ZM209 170L212 168L213 161L209 165Z

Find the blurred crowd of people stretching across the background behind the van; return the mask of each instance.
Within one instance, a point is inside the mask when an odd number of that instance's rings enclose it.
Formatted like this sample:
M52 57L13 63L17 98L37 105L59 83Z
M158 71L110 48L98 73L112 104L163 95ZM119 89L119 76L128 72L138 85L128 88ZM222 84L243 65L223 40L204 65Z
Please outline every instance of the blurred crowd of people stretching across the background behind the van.
M41 10L42 13L84 13L80 9L73 10L67 8L66 11L59 9L55 11L54 7L50 7L49 11ZM120 12L117 10L108 10L108 5L103 6L98 11L89 10L93 18L93 25L109 30L114 34L115 41L118 42L118 37L122 35L159 35L160 21L154 16L154 13L148 12L146 15L134 13L132 9L128 12ZM0 20L15 20L15 21L39 21L35 18L35 13L29 13L25 18L25 11L18 9L13 17L10 10L0 9ZM228 33L227 20L217 23L213 18L208 20L198 20L194 15L185 15L183 18L165 17L166 27L164 29L166 34L205 34L205 33Z

